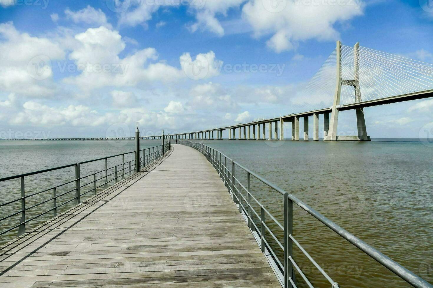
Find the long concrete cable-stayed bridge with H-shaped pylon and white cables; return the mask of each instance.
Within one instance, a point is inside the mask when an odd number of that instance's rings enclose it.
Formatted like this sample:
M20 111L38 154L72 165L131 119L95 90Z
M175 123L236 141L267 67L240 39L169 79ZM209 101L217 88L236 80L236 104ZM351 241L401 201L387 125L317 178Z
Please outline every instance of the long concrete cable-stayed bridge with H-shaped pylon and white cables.
M216 132L216 139L223 139L223 131L229 130L229 139L236 139L236 130L239 129L237 139L283 140L284 123L290 122L291 139L299 140L299 118L304 117L303 138L308 140L308 117L313 116L313 140L319 140L319 115L323 114L324 141L369 141L363 108L432 96L433 65L362 47L359 43L349 47L337 41L336 49L296 95L298 101L315 98L319 104L304 104L299 109L301 111L281 117L176 133L171 137L215 139ZM358 135L337 135L339 111L346 110L356 112Z

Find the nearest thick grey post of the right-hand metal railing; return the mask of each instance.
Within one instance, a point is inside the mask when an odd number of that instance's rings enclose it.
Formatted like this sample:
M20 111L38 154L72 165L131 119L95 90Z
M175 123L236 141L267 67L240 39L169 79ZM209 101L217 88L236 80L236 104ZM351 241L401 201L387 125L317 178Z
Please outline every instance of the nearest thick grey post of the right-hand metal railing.
M289 193L284 193L284 287L291 288L289 278L293 277L293 264L289 260L289 256L293 256L293 243L289 235L293 233L293 201L289 199L288 195Z

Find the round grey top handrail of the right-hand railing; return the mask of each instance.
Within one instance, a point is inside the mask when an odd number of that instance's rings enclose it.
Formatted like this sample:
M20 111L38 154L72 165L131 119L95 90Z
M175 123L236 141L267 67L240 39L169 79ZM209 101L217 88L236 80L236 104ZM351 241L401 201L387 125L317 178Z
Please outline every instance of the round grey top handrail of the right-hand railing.
M352 245L357 247L362 252L366 253L368 256L370 256L372 259L376 260L381 265L385 266L391 272L394 272L394 274L396 274L401 279L408 282L410 285L413 285L414 287L419 287L419 288L433 288L433 285L428 283L426 280L422 279L420 276L414 274L413 272L411 272L410 270L401 266L400 264L398 264L397 262L395 262L394 260L392 260L388 256L384 255L383 253L381 253L380 251L378 251L374 247L370 246L369 244L365 243L364 241L362 241L361 239L359 239L355 235L346 231L345 229L343 229L342 227L337 225L335 222L326 218L324 215L317 212L315 209L313 209L312 207L310 207L309 205L307 205L306 203L304 203L303 201L298 199L296 196L284 191L283 189L276 186L275 184L272 184L268 180L265 180L263 177L255 174L254 172L252 172L248 168L246 168L243 165L239 164L238 162L234 161L232 158L227 157L224 153L221 153L220 151L218 151L218 150L216 150L210 146L204 145L202 143L197 143L194 141L180 140L179 142L180 143L182 143L182 142L192 143L194 145L202 145L204 147L207 147L209 149L212 149L213 151L220 153L220 155L223 155L224 157L226 157L227 160L232 161L233 164L237 165L242 170L244 170L247 173L249 173L250 175L254 176L256 179L260 180L263 184L266 184L268 187L271 187L272 189L274 189L275 191L277 191L278 193L280 193L282 195L287 194L288 198L291 199L291 201L296 203L299 207L304 209L306 212L308 212L314 218L316 218L317 220L322 222L326 227L330 228L332 231L334 231L340 237L342 237L343 239L345 239L346 241L348 241L349 243L351 243ZM233 178L234 178L234 176L233 176ZM239 180L238 180L238 182L239 182ZM239 182L239 184L240 184L240 182Z

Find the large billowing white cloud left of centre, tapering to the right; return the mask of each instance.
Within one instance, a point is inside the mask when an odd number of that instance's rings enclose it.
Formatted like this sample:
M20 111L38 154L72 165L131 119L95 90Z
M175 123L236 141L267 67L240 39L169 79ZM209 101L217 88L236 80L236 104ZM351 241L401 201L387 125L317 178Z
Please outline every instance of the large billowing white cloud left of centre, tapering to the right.
M186 75L176 67L163 62L151 63L158 59L155 48L146 48L134 54L119 57L126 46L119 32L106 27L89 28L86 32L75 35L79 45L70 54L71 60L84 66L78 76L65 79L65 83L78 85L82 90L91 90L105 86L136 86L145 83L173 83ZM95 65L110 68L105 73L94 73Z

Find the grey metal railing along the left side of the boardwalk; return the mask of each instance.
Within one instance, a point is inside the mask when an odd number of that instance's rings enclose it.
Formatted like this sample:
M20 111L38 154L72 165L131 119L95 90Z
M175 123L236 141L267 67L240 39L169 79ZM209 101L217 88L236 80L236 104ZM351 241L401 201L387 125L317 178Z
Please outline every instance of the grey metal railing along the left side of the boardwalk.
M165 147L164 147L165 151L170 150L170 143L169 142L165 143L164 145L165 145ZM149 165L153 161L157 160L158 158L162 157L163 156L163 150L164 150L163 145L138 150L140 155L142 154L142 157L140 157L140 161L139 161L138 171L140 171L142 168ZM146 153L146 151L147 151L147 153ZM134 157L131 157L132 155ZM74 203L73 203L74 206L78 205L81 203L81 197L87 195L88 193L93 192L93 195L96 195L98 189L104 189L105 190L110 185L112 186L112 185L116 184L119 180L123 180L126 177L129 177L132 174L135 174L137 172L135 155L136 155L136 152L127 152L127 153L102 157L102 158L98 158L98 159L83 161L83 162L79 162L79 163L75 163L75 164L64 165L64 166L59 166L59 167L55 167L55 168L49 168L49 169L44 169L44 170L40 170L40 171L29 172L29 173L10 176L10 177L0 178L0 183L4 183L5 181L8 181L8 180L20 180L20 182L21 182L21 197L7 201L6 203L0 204L0 209L4 211L4 209L5 209L4 207L6 207L8 205L12 205L14 203L21 203L21 209L19 209L19 211L16 211L10 215L6 215L6 216L0 218L0 223L1 223L7 219L10 219L13 216L18 217L18 215L21 215L21 218L19 220L19 224L12 225L12 227L7 228L4 231L0 231L0 235L6 234L10 231L13 231L14 229L17 229L17 228L18 228L18 235L24 234L24 233L26 233L27 223L29 223L29 222L31 222L31 221L33 221L33 220L35 220L35 219L37 219L43 215L46 215L49 212L53 212L53 217L55 217L55 216L57 216L58 209L67 205L68 203L71 203L72 201L74 201ZM131 158L131 160L125 161L125 156L127 156L127 157L129 156L129 158ZM119 157L119 158L122 157L122 162L120 164L108 167L108 160L113 159L113 158L117 158L117 157ZM87 174L85 176L81 176L81 169L80 169L81 165L88 164L88 163L94 163L97 161L104 161L105 162L105 168L100 170L100 171L93 172L93 173ZM26 177L38 175L38 176L44 177L46 179L47 176L46 176L46 174L44 175L44 173L51 172L51 171L58 171L59 172L61 169L65 169L65 168L74 168L74 174L75 175L74 176L71 175L71 177L73 177L72 180L67 181L65 183L62 183L62 184L59 184L59 185L55 185L55 186L50 187L48 189L44 189L44 190L41 190L38 192L26 194ZM111 179L109 180L109 178L111 178ZM82 182L85 182L85 183L82 184ZM102 182L102 184L100 184L101 182ZM67 187L68 184L74 185L74 188L68 189L66 192L62 192L60 194L57 193L59 188ZM82 190L86 190L86 191L83 193ZM45 198L46 198L46 195L43 193L48 193L50 191L52 192L52 196L51 197L48 196L49 197L48 199L43 199L41 202L37 202L36 204L32 203L31 206L27 205L28 204L27 202L29 202L28 199L35 199L32 197L38 196L38 195L39 196L45 196ZM72 192L75 192L74 197L72 197L71 199L68 199L67 201L58 205L57 202L58 202L58 199L60 197L68 195L69 193L72 193ZM39 198L41 198L41 197L39 197ZM38 215L33 216L32 218L26 218L26 214L29 210L34 209L34 208L41 206L42 204L48 203L50 201L52 201L52 208L45 210L42 213L39 213Z

